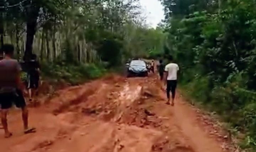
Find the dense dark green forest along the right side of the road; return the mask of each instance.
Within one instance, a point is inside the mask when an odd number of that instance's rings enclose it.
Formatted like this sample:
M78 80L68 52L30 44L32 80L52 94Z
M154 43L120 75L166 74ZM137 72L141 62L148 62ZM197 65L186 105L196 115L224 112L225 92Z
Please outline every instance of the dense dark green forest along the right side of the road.
M256 1L161 2L165 53L180 64L183 88L256 148Z

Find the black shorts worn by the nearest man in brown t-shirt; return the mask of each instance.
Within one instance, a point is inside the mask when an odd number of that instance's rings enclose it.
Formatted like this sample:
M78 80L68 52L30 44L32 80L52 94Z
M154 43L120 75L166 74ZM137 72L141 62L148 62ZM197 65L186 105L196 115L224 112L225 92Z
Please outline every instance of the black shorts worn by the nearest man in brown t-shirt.
M16 93L0 93L1 109L10 109L13 104L17 108L24 108L26 106L21 90L16 90Z

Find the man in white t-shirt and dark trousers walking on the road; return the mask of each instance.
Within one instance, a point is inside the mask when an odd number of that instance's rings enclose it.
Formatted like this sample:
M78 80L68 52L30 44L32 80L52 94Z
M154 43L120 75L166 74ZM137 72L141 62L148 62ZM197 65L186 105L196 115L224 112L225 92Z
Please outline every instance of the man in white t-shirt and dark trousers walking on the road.
M177 72L179 67L176 63L173 63L173 58L170 55L170 63L165 66L164 84L166 85L167 103L170 105L170 91L172 93L172 106L174 106L174 98L177 87ZM167 84L166 84L167 83Z

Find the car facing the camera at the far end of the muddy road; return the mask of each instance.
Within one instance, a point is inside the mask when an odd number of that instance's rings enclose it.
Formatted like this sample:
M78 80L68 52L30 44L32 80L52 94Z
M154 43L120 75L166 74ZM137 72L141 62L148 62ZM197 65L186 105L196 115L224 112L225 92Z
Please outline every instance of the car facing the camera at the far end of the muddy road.
M132 60L128 66L127 76L148 76L146 62L143 60Z

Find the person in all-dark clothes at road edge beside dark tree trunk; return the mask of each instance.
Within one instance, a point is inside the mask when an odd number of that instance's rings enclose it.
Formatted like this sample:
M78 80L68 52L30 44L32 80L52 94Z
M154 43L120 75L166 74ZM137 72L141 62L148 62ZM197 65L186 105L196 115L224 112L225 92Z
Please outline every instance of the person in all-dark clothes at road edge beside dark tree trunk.
M31 60L28 62L28 94L29 94L29 101L32 101L32 98L35 95L38 95L38 86L40 80L40 65L37 61L37 55L32 54Z

